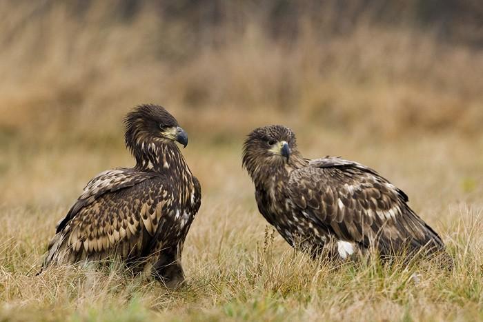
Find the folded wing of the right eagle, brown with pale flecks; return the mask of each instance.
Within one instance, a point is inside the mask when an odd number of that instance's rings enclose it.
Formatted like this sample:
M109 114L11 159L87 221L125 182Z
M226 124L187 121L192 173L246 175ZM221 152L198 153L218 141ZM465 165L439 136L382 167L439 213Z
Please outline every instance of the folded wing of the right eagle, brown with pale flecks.
M296 210L344 241L382 254L424 245L442 248L437 233L408 207L408 197L375 170L344 159L315 159L290 174Z

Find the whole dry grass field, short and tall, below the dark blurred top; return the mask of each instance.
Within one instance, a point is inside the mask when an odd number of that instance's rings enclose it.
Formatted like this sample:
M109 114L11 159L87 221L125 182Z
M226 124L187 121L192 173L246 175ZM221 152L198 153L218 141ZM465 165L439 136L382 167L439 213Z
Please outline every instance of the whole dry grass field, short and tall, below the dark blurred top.
M302 21L280 41L256 19L196 48L150 8L119 23L100 2L84 20L12 3L0 5L0 321L483 321L481 50L366 23L321 37ZM188 132L201 182L186 285L166 290L116 263L34 276L88 180L133 164L121 120L146 102ZM270 123L293 128L306 157L354 159L402 188L454 269L294 252L242 170L244 136Z

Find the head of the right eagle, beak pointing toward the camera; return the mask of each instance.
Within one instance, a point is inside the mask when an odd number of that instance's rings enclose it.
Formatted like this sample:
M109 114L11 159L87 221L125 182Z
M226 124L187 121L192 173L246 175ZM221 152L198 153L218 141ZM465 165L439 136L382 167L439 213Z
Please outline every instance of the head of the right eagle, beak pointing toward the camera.
M292 130L283 125L268 125L248 134L242 163L255 179L267 169L289 163L294 152L297 153L297 142Z

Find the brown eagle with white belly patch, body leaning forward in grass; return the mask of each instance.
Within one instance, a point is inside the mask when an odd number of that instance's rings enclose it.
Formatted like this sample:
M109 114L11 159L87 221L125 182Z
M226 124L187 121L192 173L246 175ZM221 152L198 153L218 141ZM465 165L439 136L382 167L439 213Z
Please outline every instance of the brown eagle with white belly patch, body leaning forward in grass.
M332 258L376 250L382 258L443 250L438 234L409 208L402 190L360 163L304 159L282 125L253 130L243 165L259 212L292 246Z

